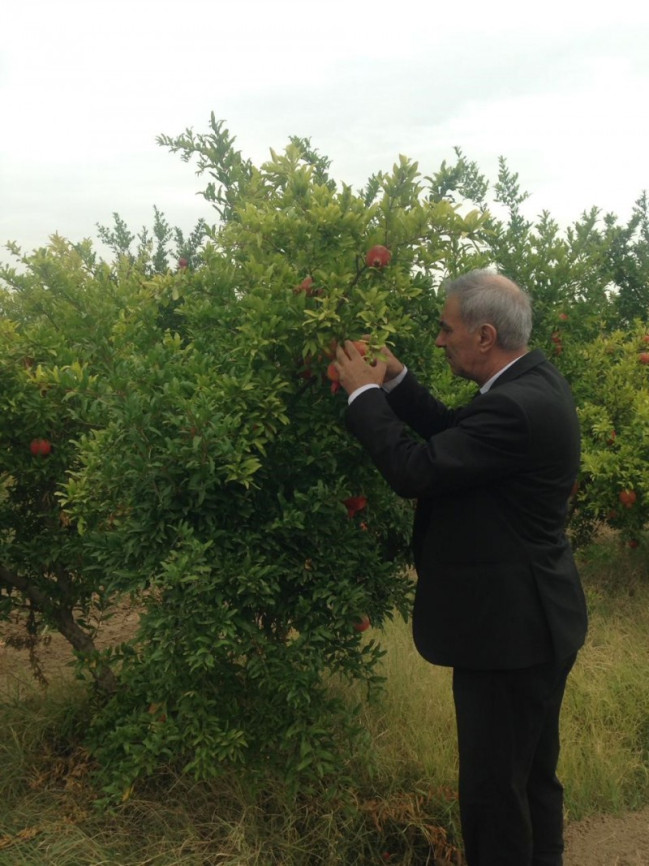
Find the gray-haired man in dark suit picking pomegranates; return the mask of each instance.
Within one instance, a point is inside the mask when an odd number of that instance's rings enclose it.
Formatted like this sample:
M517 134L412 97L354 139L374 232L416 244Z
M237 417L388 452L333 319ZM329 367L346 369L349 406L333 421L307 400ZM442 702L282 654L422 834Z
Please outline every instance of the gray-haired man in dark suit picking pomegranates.
M336 358L349 430L417 500L413 636L453 668L469 866L562 863L559 713L587 625L564 533L580 434L566 381L527 348L531 323L504 276L448 284L436 345L480 386L459 409L387 349L371 366L347 341Z

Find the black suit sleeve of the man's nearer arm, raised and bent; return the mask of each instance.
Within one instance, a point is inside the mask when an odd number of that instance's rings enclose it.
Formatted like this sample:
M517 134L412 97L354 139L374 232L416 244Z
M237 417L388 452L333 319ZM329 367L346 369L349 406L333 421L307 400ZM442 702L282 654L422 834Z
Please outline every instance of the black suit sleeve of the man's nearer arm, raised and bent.
M346 422L399 496L459 492L525 468L529 425L522 409L506 396L490 392L444 423L437 410L432 419L420 419L412 425L415 430L438 431L427 441L409 433L391 403L378 389L366 391L348 408Z

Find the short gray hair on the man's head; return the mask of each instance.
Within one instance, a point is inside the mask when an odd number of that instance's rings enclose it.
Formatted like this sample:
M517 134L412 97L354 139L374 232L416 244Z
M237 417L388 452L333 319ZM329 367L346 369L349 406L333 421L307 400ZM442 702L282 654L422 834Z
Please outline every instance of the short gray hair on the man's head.
M462 321L470 331L493 325L498 345L507 351L527 346L532 331L529 295L512 280L488 270L469 271L445 284L447 297L457 296Z

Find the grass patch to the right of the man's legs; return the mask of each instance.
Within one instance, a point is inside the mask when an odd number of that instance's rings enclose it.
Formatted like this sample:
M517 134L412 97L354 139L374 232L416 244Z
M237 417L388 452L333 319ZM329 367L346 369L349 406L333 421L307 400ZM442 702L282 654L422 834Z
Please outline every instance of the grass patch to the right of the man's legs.
M569 818L649 803L647 552L592 547L582 570L591 628L562 716Z

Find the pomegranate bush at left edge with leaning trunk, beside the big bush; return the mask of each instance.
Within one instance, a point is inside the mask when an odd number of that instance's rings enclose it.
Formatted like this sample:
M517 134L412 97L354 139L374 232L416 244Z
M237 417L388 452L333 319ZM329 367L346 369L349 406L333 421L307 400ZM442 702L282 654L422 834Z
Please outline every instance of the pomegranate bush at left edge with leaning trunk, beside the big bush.
M21 274L5 269L1 299L0 611L27 614L32 644L43 627L58 629L109 690L114 674L93 643L107 598L60 496L79 439L105 422L97 376L129 289L88 244L56 236L23 264Z

